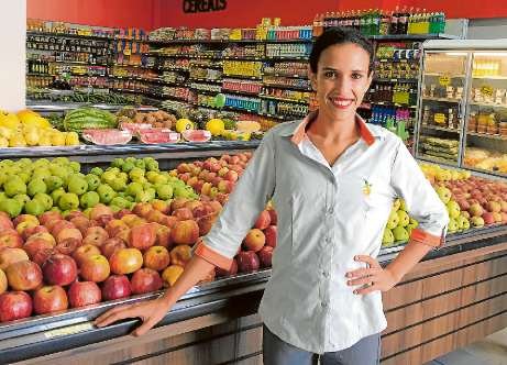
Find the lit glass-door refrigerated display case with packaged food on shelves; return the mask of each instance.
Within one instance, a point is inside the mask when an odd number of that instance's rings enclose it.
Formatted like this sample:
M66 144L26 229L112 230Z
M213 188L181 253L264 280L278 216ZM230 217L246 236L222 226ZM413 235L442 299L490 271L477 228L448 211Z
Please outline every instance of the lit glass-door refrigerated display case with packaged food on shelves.
M423 44L416 157L507 176L507 40Z

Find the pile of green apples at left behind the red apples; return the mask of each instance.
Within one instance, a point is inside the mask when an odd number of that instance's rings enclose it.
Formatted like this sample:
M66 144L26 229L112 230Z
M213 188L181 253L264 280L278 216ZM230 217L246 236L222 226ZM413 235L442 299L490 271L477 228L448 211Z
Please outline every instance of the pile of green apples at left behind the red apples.
M135 202L173 197L198 198L184 181L159 172L152 157L115 158L106 172L95 167L87 175L80 173L79 163L66 157L0 162L0 211L11 218L48 210L65 215L98 203L119 211L132 209Z

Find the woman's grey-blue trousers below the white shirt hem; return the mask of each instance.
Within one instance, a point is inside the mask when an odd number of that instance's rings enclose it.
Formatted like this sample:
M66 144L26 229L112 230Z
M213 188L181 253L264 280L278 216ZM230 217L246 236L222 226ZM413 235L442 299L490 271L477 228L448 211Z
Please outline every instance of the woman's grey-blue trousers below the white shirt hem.
M263 361L264 365L378 365L381 334L364 338L349 349L318 355L284 342L264 325Z

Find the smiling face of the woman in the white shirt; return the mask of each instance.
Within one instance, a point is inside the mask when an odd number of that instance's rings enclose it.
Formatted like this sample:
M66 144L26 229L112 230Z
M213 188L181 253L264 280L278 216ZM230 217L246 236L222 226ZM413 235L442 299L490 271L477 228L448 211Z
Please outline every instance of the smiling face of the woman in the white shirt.
M354 118L372 82L373 75L368 75L368 53L354 43L326 48L320 54L317 74L310 70L319 113L331 121Z

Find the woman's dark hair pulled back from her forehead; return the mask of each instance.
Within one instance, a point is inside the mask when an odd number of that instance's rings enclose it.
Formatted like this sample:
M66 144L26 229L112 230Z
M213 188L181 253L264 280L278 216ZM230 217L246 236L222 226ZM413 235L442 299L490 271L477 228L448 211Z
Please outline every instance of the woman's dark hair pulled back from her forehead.
M372 43L353 27L333 26L327 29L313 43L310 54L310 68L317 74L317 64L322 52L335 44L354 43L366 51L370 55L368 75L372 74L375 62L375 53Z

